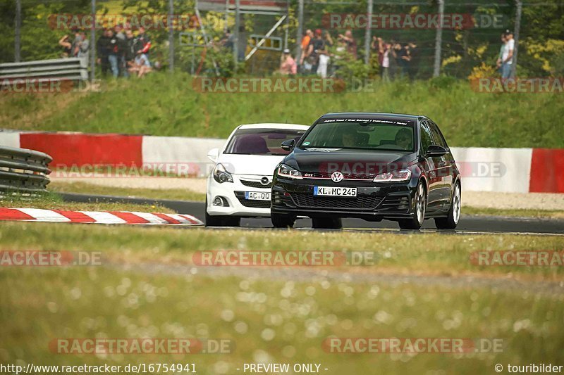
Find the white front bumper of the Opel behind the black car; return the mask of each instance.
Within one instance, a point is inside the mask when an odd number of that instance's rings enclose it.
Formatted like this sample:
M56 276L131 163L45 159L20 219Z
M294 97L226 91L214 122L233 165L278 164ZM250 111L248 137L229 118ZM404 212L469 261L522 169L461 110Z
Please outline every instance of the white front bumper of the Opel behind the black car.
M212 175L207 178L207 213L218 216L270 217L270 201L245 200L245 191L271 192L271 182L264 185L262 176L233 174L233 182L216 182ZM227 206L213 205L214 198L221 197Z

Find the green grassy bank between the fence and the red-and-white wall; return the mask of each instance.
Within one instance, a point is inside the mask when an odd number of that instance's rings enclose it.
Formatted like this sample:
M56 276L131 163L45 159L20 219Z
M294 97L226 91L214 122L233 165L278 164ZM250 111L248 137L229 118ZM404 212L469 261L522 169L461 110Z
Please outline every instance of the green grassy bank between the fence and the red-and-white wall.
M201 94L188 75L119 80L90 94L8 95L9 129L225 138L250 122L311 124L336 111L415 113L440 125L450 146L564 148L558 94L482 94L465 81L376 85L372 93Z

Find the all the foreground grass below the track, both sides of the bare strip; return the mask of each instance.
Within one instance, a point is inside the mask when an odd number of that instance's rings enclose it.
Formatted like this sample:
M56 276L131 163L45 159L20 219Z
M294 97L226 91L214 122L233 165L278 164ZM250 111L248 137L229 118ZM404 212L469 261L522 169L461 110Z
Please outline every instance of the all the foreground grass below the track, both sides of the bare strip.
M486 374L496 363L558 364L563 295L485 286L333 279L332 272L562 280L563 267L476 267L474 250L562 250L560 236L214 231L0 224L2 250L101 251L98 267L0 267L0 360L35 364L195 363L200 374L236 374L245 362L321 363L326 374ZM197 250L373 250L374 267L327 268L294 281L205 276L187 267ZM109 262L109 265L106 263ZM137 264L150 264L147 269ZM162 265L159 270L155 265ZM294 269L300 271L299 269ZM239 269L241 271L241 269ZM244 270L243 270L244 271ZM329 354L329 336L499 338L483 354ZM57 355L54 338L223 338L214 355Z

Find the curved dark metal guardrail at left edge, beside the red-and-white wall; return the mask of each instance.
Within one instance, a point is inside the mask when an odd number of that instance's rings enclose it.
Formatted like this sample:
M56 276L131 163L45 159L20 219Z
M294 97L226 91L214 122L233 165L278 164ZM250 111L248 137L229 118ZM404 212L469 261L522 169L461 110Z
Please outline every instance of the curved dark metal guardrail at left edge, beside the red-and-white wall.
M44 193L52 160L47 153L0 146L0 191Z

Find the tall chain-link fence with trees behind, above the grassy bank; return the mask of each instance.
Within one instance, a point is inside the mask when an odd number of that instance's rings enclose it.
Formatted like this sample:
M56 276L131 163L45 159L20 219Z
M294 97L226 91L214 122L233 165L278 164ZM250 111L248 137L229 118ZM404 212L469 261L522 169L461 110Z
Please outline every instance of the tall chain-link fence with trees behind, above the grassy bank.
M201 5L206 2L215 5ZM520 75L558 75L564 64L564 30L558 27L564 5L558 1L9 0L2 8L2 62L80 53L92 77L116 75L114 58L108 60L113 46L106 45L116 32L125 38L118 47L118 76L128 75L128 61L147 40L143 53L152 70L192 75L270 75L281 67L284 49L303 74L317 74L319 56L326 55L326 75L345 65L350 74L370 77L386 71L412 79L492 75L503 55L504 30L515 30L513 67ZM133 46L129 38L142 34L144 17L147 38ZM114 32L110 40L106 27ZM317 39L322 44L311 51Z

